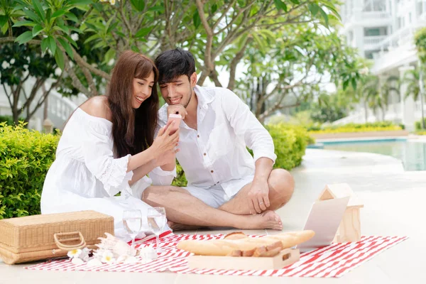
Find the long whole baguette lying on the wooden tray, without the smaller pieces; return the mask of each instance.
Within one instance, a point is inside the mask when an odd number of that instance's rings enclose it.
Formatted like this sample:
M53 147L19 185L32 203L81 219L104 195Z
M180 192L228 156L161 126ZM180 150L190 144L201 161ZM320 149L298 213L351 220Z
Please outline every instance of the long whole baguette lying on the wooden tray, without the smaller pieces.
M178 249L201 256L230 256L234 251L251 251L260 246L273 246L277 241L287 249L312 238L314 231L295 231L261 238L219 239L209 241L180 241Z

